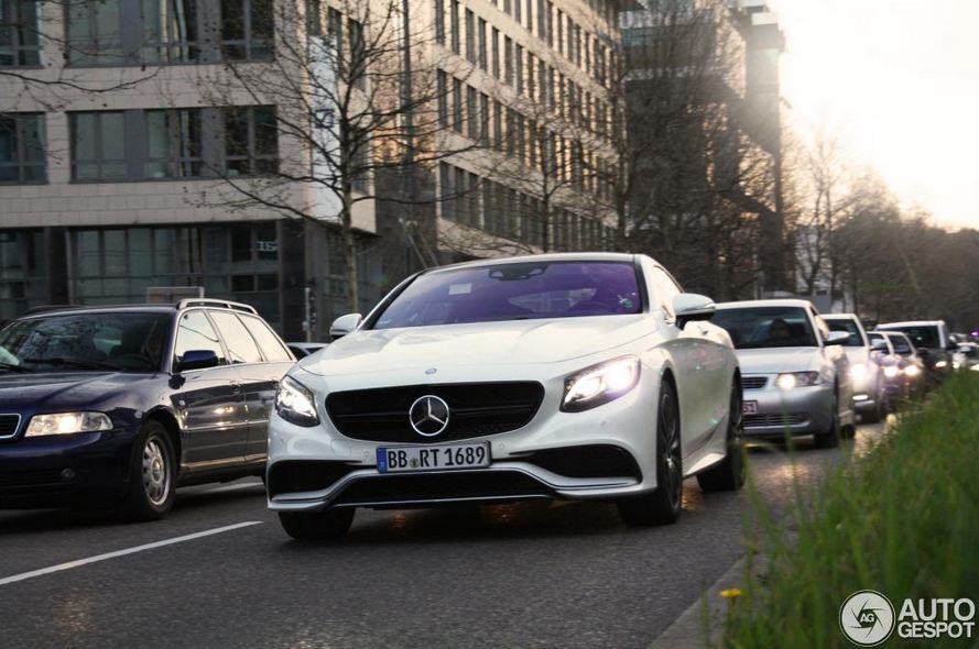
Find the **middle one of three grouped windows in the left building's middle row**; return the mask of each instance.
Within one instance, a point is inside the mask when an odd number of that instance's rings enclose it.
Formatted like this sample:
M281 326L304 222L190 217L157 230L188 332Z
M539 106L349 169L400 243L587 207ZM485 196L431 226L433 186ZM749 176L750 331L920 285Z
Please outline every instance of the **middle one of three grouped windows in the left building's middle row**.
M148 110L145 178L203 175L200 110Z

